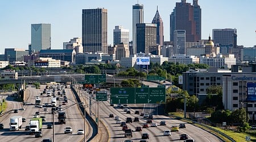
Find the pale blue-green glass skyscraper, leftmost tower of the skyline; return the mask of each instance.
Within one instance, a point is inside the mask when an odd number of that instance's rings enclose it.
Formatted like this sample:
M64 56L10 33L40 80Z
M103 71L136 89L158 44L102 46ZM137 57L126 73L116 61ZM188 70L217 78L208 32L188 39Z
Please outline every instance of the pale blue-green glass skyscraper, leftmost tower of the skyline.
M51 49L51 24L31 24L31 51Z

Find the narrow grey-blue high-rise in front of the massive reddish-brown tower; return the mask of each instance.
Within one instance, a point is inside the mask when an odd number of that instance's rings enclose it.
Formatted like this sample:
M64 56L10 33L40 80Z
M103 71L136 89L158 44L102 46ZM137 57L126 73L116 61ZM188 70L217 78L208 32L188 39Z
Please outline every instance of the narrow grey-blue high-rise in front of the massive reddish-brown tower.
M174 55L186 55L186 31L174 31Z

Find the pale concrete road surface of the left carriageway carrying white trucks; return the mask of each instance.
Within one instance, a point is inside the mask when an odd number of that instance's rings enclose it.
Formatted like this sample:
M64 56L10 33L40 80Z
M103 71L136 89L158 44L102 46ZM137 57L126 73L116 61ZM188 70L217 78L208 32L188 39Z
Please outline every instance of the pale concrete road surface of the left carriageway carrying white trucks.
M44 87L42 89L35 89L32 87L28 87L26 91L26 95L28 96L28 103L34 104L36 95L39 95L42 100L42 104L49 103L51 104L51 97L46 97L46 94L40 95L43 92ZM56 91L57 93L57 91ZM66 124L58 124L57 114L55 114L55 127L54 127L54 137L55 141L81 141L84 135L77 135L78 129L84 129L84 117L81 115L81 111L77 107L77 105L73 105L67 109L66 106L72 105L76 103L75 97L71 91L71 89L65 89L65 93L68 98L68 103L63 105L63 111L66 112ZM10 97L9 97L10 98ZM8 99L7 99L8 100ZM9 99L10 100L10 99ZM60 97L60 100L57 101L57 106L62 105L63 98ZM43 108L35 107L35 105L25 105L22 106L22 103L8 101L9 108L19 109L24 108L24 110L19 110L18 113L10 112L5 116L0 118L0 122L4 124L4 129L0 130L0 136L2 140L5 141L41 141L42 139L51 138L53 140L53 129L47 129L47 124L53 124L53 114L51 114L51 107L46 107L48 110L44 111ZM42 133L43 137L35 138L35 135L29 135L28 131L24 130L24 127L30 123L30 119L33 118L33 115L36 111L39 111L39 116L45 116L46 122L43 122ZM9 131L9 123L10 118L12 116L22 116L26 118L26 122L23 122L22 128L19 131ZM72 127L72 134L64 134L65 127ZM89 128L90 131L90 128Z

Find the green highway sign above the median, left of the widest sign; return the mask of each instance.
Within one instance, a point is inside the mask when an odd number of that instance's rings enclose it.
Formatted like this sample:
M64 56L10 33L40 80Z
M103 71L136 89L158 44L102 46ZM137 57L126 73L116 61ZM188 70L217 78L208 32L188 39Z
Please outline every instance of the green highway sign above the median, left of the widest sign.
M85 83L106 83L106 74L85 74Z

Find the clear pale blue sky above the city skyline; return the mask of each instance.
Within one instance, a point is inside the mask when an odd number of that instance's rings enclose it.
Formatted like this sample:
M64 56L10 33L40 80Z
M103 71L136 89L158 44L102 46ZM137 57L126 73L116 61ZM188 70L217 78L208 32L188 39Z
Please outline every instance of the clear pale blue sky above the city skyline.
M144 23L151 23L156 6L164 22L164 41L170 39L170 14L180 0L139 0L144 5ZM192 0L187 0L192 3ZM81 37L82 9L108 9L108 44L113 44L114 26L130 30L132 40L132 7L137 0L3 0L0 9L0 53L5 48L28 49L31 24L50 23L52 49L62 49L63 42ZM212 35L213 28L237 28L237 44L256 45L255 0L199 0L202 9L202 39Z

